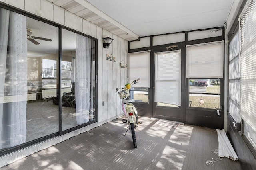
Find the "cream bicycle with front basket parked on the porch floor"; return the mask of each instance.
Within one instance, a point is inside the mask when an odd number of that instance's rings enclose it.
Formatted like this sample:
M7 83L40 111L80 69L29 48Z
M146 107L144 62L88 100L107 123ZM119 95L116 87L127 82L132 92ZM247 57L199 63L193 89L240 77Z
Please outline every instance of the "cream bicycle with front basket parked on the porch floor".
M132 142L134 148L137 148L137 142L136 142L136 135L135 130L136 127L141 124L141 122L138 122L138 112L132 102L135 102L134 99L130 99L130 92L129 90L132 88L132 86L136 83L138 83L138 80L134 80L131 84L127 83L124 88L116 88L116 92L118 92L118 95L120 99L122 99L122 110L125 115L125 119L122 119L123 123L127 123L127 131L130 129L132 133ZM128 113L128 114L127 114ZM126 135L126 133L124 135Z

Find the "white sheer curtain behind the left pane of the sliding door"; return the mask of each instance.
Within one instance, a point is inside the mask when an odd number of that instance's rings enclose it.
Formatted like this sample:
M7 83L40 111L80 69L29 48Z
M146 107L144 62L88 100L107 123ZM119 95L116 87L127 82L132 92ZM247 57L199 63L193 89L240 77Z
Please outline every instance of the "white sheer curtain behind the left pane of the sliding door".
M0 8L0 149L26 141L26 16Z

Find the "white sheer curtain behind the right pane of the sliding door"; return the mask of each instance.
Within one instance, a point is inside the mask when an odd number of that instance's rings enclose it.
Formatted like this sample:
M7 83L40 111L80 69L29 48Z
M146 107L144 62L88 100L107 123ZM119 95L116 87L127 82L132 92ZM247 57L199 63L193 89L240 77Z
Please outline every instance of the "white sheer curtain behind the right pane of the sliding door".
M91 40L82 35L76 37L76 123L89 121L91 84Z

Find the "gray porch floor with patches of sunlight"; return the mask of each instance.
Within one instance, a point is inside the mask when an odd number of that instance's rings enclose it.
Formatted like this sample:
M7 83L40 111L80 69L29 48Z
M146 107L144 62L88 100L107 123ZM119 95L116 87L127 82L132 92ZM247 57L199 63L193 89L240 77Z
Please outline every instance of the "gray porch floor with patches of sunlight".
M41 150L0 170L241 170L239 161L218 158L215 129L139 117L138 147L122 117Z

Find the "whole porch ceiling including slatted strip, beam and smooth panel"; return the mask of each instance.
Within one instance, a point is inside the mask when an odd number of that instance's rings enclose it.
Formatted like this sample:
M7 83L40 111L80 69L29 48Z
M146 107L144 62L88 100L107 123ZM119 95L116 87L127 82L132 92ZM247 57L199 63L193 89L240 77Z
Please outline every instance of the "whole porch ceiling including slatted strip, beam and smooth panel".
M48 0L132 41L139 37L224 26L239 0Z

